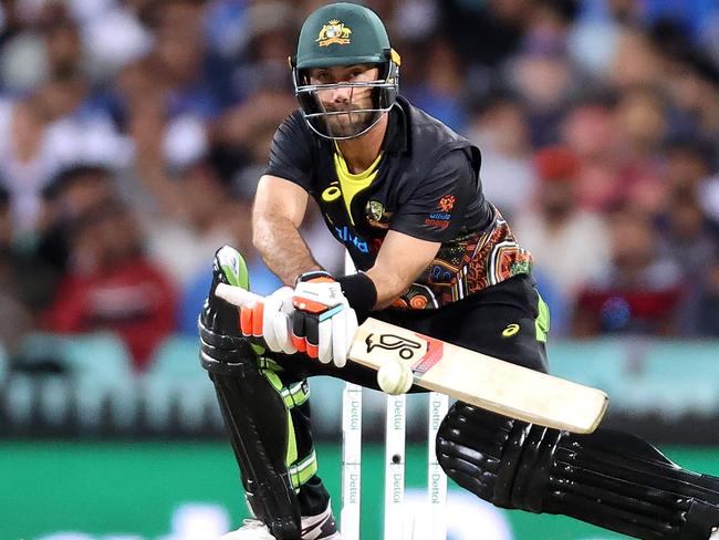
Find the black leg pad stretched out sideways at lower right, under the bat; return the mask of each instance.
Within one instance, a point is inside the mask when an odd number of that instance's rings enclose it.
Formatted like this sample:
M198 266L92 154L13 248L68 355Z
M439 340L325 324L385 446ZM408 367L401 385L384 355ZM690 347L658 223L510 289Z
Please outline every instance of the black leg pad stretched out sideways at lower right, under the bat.
M719 478L618 432L575 435L457 402L437 455L457 484L502 508L562 513L647 540L707 540L719 525Z

